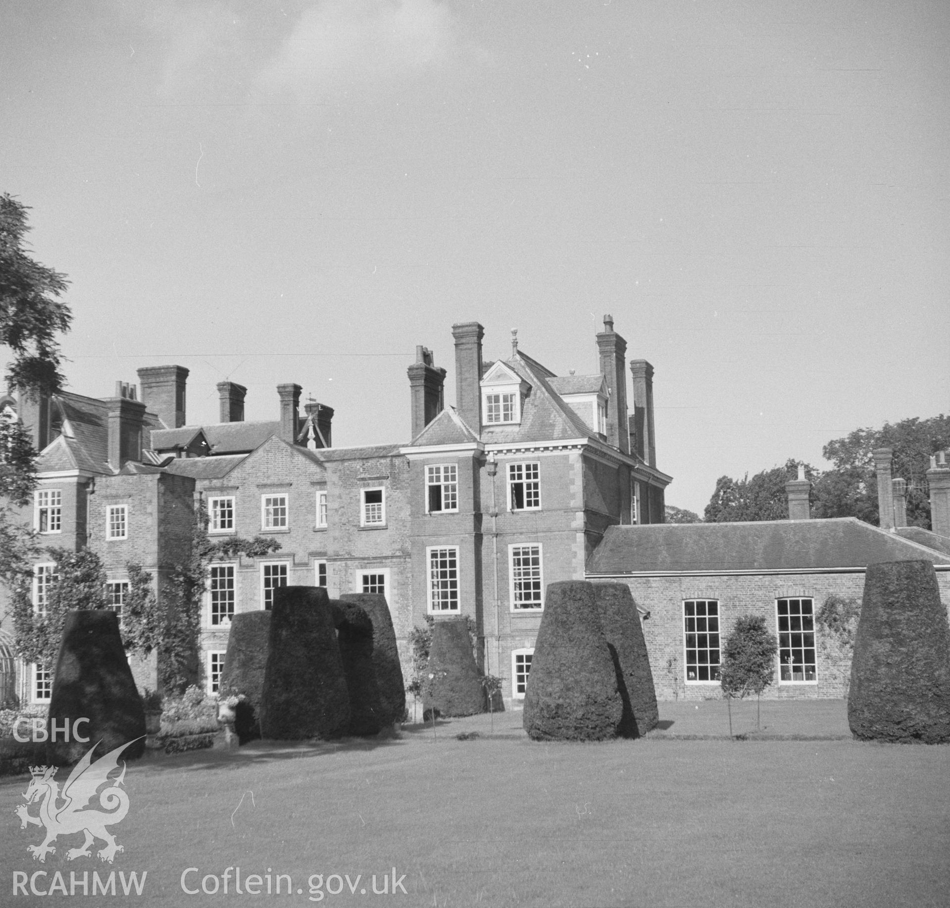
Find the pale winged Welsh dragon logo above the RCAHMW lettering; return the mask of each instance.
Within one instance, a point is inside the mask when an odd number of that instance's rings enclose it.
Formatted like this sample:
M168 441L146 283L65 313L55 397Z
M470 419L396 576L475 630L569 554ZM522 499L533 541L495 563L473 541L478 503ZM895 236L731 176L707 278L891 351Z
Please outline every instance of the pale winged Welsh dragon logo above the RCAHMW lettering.
M27 846L34 861L37 859L46 861L47 854L56 852L52 842L57 836L71 836L77 832L85 833L85 842L81 847L70 848L66 852L67 861L91 857L89 847L97 839L105 842L105 847L98 852L103 861L111 863L116 852L124 850L123 846L116 842L115 836L105 827L119 823L128 813L128 795L122 787L125 778L125 763L123 762L122 772L118 778L110 779L109 774L119 768L119 754L132 743L129 741L122 747L110 750L95 763L92 763L92 751L98 747L98 744L90 747L83 759L69 773L62 793L59 790L59 783L53 778L56 775L56 766L29 767L32 778L23 795L26 804L20 804L16 808L16 815L20 818L21 829L26 829L28 825L46 827L47 838L44 842L40 845ZM99 792L99 804L105 809L97 810L92 807L85 809L86 805L96 797L100 785L106 783L109 787ZM31 816L28 805L41 799L39 817Z

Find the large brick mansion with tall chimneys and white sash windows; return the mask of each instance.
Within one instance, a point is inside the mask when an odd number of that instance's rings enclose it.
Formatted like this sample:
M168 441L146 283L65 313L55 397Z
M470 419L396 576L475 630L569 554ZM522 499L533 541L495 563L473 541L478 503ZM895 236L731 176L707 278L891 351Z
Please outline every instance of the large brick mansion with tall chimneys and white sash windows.
M139 369L138 388L119 383L104 400L0 398L0 411L28 426L40 452L25 519L48 546L97 552L119 611L129 562L152 575L161 603L172 567L187 558L197 501L213 539L276 539L271 555L209 567L200 627L209 692L231 617L269 608L284 585L384 594L407 679L412 629L427 616L469 616L480 667L502 679L508 708L523 699L544 590L556 580L631 588L659 699L716 695L721 642L749 614L764 615L779 641L767 695L841 696L847 666L829 661L816 615L832 594L860 599L874 561L932 561L950 601L942 455L927 473L933 532L904 525L889 449L875 452L880 527L811 520L804 476L788 482L788 520L666 524L672 477L656 465L654 369L627 362L609 315L592 375L555 375L516 335L507 359L485 362L480 324L452 333L455 407L444 403L447 370L417 348L408 440L399 444L334 446L333 408L314 402L301 412L296 384L277 386L275 420L248 422L247 389L222 382L219 422L189 425L180 366ZM54 580L54 563L34 565L36 609ZM7 688L42 702L50 672L11 658L3 595ZM135 669L155 686L154 656Z

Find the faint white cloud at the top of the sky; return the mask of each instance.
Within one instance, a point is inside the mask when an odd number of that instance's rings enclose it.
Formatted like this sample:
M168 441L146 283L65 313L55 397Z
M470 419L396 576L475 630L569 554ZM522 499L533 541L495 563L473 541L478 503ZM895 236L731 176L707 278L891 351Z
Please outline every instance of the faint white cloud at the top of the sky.
M399 84L447 65L457 47L436 0L322 0L300 16L261 74L298 95Z

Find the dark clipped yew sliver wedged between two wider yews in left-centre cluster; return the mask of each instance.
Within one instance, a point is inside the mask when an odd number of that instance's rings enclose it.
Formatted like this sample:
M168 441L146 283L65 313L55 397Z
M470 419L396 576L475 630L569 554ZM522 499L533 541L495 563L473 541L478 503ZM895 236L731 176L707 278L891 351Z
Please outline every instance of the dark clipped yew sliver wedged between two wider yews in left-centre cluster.
M382 728L382 704L372 664L372 622L355 602L330 600L336 642L350 691L350 734L369 737Z

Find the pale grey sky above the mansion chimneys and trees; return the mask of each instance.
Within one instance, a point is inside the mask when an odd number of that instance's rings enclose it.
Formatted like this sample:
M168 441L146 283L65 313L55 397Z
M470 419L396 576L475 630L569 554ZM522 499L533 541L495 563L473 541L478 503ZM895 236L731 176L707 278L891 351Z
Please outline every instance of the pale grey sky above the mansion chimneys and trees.
M950 4L0 5L0 192L70 280L68 388L190 369L409 440L417 345L656 370L667 502L948 411ZM0 350L0 353L4 351ZM628 374L629 381L629 374Z

